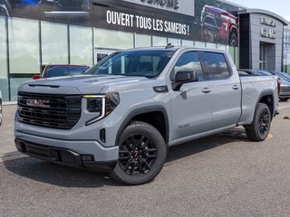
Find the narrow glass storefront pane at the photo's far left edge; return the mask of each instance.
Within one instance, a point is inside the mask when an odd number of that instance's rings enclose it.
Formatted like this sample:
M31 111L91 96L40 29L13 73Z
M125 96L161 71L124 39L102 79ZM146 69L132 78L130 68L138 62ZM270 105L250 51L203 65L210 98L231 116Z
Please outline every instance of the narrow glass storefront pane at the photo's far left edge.
M5 16L0 16L0 90L2 99L9 100Z

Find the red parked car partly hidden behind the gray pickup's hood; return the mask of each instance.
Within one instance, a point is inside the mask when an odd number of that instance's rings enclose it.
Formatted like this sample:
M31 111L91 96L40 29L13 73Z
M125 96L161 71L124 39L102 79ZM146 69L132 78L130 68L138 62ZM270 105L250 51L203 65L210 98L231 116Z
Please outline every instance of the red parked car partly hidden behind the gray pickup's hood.
M43 67L41 75L35 75L34 80L60 77L60 76L71 76L80 75L84 71L90 69L89 66L85 65L46 65Z

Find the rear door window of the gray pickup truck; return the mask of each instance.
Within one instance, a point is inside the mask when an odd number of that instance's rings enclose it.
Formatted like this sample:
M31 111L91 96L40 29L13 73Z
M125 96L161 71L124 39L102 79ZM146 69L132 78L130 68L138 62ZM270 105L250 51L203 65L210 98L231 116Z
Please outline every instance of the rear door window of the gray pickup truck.
M200 52L205 80L226 80L230 77L225 55L219 52Z

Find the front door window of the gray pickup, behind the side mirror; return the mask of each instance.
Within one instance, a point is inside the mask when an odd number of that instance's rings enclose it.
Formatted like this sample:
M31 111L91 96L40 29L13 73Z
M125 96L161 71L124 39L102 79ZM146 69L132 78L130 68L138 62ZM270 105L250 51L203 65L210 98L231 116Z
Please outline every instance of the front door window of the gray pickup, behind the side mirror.
M174 74L178 71L196 71L198 80L203 80L201 63L198 52L186 52L179 57L179 61L174 66Z

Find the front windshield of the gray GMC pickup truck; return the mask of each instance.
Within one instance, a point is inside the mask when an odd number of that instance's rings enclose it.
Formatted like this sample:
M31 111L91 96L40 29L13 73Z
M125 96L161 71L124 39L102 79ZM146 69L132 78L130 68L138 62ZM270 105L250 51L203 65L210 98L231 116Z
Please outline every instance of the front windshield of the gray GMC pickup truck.
M174 51L115 52L85 74L154 78L163 71L173 53Z

